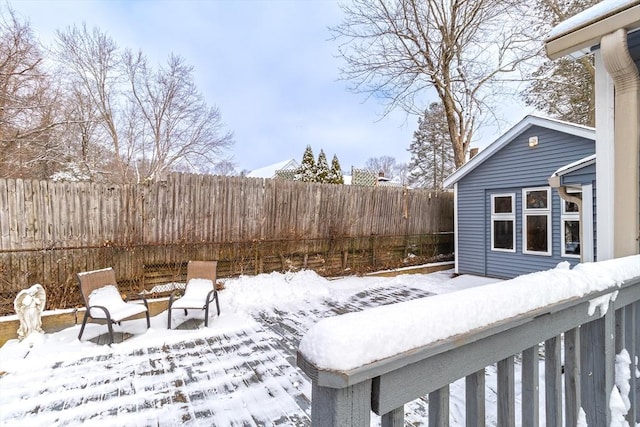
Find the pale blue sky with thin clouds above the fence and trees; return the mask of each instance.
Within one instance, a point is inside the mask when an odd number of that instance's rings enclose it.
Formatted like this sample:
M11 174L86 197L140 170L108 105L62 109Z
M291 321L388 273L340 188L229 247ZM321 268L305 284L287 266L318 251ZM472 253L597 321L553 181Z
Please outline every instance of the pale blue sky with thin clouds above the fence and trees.
M417 117L347 91L328 27L342 12L335 0L19 0L11 7L47 44L56 29L99 27L122 48L152 63L178 54L195 68L210 105L234 133L237 170L285 159L336 154L345 171L371 157L410 158ZM514 117L515 124L522 115ZM506 128L502 129L503 131ZM486 145L498 135L484 132Z

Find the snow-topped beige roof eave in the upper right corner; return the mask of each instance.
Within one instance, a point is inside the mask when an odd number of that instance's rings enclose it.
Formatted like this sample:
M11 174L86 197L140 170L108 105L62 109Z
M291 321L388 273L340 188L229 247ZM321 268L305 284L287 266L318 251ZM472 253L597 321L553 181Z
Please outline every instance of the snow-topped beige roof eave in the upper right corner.
M640 0L611 8L603 14L588 15L586 19L581 15L552 30L545 41L545 50L550 59L587 54L600 43L603 36L619 28L625 28L628 32L640 29Z

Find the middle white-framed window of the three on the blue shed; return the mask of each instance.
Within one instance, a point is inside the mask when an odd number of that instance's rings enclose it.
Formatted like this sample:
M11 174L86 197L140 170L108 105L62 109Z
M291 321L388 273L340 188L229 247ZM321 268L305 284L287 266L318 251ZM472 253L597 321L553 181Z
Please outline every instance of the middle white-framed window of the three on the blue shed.
M551 255L551 189L522 190L523 253Z

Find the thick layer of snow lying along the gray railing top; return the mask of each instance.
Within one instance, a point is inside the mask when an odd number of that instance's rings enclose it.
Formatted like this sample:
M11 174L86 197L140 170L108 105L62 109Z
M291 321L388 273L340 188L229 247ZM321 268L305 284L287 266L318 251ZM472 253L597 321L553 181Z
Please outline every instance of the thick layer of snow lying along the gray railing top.
M640 255L580 264L573 270L559 267L326 318L303 337L299 350L320 369L347 371L540 307L619 286L624 280L640 276Z

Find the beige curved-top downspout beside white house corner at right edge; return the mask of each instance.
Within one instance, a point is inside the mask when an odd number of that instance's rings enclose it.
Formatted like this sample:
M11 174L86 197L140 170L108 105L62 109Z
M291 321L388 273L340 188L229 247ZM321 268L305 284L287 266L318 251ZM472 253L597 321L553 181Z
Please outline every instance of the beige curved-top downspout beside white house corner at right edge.
M602 59L615 87L613 255L639 252L640 239L640 77L627 46L627 31L602 37Z

